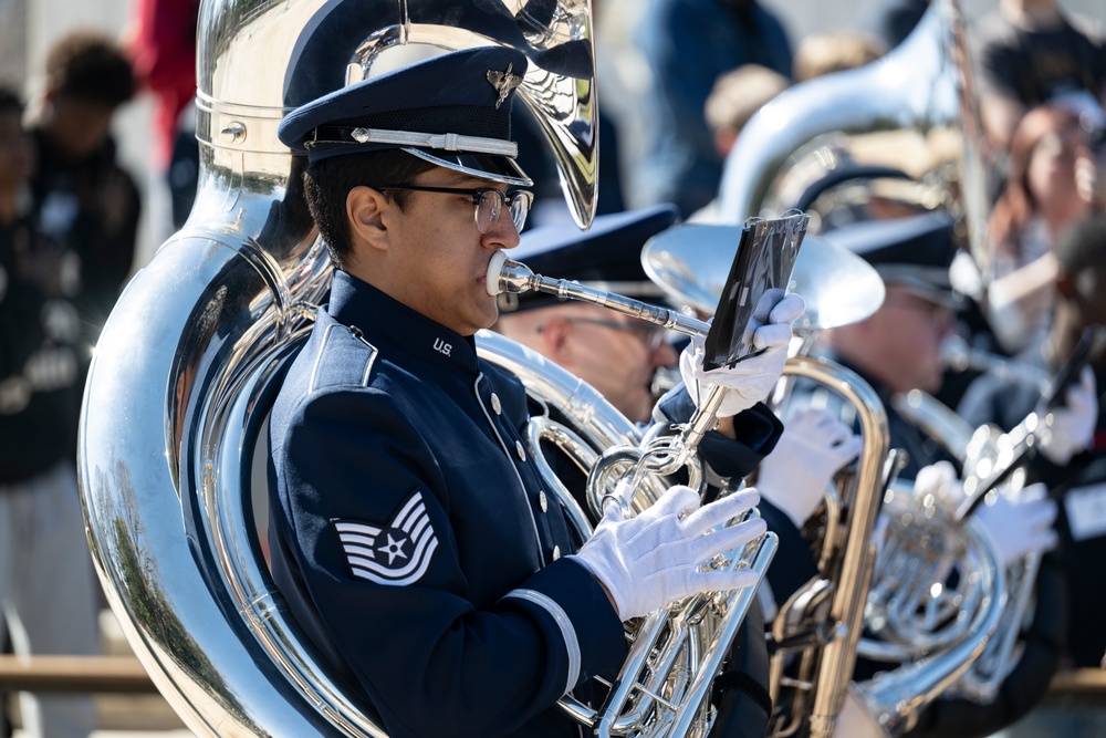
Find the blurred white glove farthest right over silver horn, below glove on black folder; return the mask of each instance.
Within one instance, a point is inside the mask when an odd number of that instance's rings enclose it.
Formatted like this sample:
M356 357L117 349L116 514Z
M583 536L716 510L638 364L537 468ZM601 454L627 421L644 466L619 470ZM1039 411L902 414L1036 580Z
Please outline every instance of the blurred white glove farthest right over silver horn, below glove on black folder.
M980 505L975 514L991 534L1004 567L1056 545L1056 531L1052 528L1056 502L1047 496L1042 482L999 495L993 505Z

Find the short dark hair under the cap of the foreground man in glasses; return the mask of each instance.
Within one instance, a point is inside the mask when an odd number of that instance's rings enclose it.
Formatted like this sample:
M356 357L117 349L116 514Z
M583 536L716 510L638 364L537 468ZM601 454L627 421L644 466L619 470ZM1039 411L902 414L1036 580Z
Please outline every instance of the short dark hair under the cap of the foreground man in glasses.
M352 248L345 210L349 190L362 185L409 185L434 167L400 149L334 156L312 163L303 173L303 193L334 266L343 269L345 254ZM385 190L384 195L403 210L411 193Z

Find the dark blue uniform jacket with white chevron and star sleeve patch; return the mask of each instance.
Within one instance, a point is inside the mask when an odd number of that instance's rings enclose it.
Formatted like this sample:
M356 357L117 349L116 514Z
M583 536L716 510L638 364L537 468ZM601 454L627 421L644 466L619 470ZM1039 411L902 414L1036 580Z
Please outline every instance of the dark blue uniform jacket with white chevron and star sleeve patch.
M272 569L390 736L578 735L555 700L625 657L528 417L471 337L335 272L272 413Z

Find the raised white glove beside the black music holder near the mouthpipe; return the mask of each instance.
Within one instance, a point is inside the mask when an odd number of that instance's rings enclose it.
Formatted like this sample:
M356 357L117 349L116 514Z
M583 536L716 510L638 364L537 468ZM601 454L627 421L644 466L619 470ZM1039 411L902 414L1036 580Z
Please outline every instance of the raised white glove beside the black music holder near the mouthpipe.
M752 335L752 345L762 353L751 355L734 366L720 366L705 372L703 337L695 336L680 355L680 376L692 402L699 404L708 394L700 385L726 387L718 417L737 415L749 409L768 396L783 374L787 360L787 344L791 342L791 324L806 312L806 303L797 294L784 294L772 289L761 295L753 319L749 321L747 333Z

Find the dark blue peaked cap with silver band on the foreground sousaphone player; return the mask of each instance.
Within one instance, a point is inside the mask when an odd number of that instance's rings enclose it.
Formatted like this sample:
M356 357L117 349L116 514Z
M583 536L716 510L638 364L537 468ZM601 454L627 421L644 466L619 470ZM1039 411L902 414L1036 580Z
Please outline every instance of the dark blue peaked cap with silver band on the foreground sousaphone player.
M511 104L525 73L526 58L513 49L455 51L301 105L276 134L311 162L398 148L447 169L529 187L511 141Z

